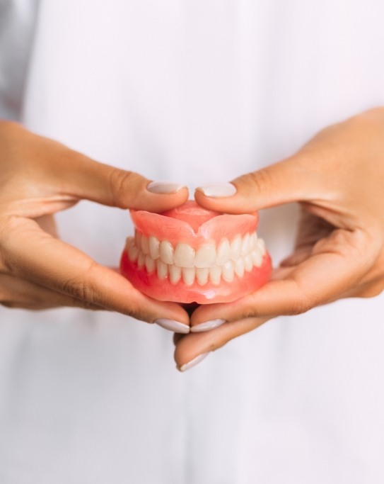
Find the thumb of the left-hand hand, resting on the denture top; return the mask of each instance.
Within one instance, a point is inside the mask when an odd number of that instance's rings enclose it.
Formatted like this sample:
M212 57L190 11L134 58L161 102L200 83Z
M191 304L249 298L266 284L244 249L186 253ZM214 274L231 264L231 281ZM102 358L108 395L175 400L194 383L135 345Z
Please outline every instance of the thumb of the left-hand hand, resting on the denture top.
M95 162L75 153L64 167L61 186L66 195L107 206L163 212L184 203L186 186L168 181L151 182L134 171Z

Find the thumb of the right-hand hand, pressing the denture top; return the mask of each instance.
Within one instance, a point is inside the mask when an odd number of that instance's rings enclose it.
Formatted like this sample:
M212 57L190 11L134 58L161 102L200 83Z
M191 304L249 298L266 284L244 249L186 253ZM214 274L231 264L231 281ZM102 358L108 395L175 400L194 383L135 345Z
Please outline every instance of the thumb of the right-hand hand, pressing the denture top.
M195 198L209 210L251 213L295 201L318 197L319 174L313 163L297 154L269 167L245 174L230 184L206 184L197 188Z

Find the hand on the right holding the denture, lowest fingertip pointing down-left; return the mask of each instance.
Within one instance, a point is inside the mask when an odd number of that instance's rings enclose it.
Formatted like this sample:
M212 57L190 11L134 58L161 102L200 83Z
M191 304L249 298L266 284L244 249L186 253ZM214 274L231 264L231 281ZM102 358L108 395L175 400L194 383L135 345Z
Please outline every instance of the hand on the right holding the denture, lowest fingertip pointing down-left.
M196 200L211 210L246 213L299 202L296 248L272 281L235 303L200 306L192 331L178 338L179 368L278 315L296 315L340 298L376 296L384 288L384 108L322 130L297 154L233 181L233 196ZM211 188L212 189L212 188Z

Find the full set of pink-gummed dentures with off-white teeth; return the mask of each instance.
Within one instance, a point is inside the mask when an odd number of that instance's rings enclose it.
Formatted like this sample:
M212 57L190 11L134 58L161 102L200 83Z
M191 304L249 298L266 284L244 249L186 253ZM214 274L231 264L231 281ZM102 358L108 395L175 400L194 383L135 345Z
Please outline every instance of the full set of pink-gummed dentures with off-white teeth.
M142 293L178 303L231 302L269 279L258 215L228 215L194 201L163 213L131 210L120 269Z

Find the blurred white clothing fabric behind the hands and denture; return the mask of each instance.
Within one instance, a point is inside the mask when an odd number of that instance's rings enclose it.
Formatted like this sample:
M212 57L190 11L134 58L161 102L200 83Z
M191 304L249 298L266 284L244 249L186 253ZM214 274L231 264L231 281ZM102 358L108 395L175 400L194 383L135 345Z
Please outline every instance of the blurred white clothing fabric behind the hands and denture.
M383 105L379 0L40 0L35 30L32 6L0 0L4 116L151 179L227 181ZM295 220L262 214L275 261ZM131 231L88 202L59 226L105 264ZM382 483L383 300L281 317L185 374L161 328L1 308L0 482Z

